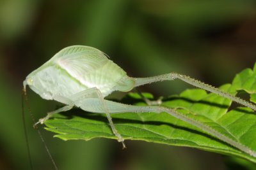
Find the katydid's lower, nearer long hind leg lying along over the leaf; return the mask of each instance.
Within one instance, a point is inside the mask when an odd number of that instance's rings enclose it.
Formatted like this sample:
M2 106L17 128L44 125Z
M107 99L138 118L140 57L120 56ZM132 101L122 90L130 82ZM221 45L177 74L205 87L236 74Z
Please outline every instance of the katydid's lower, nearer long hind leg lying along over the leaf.
M163 106L132 106L122 103L116 103L113 101L107 101L104 100L106 103L106 106L108 106L109 113L126 113L126 112L133 112L133 113L143 113L143 112L154 112L154 113L161 113L166 112L170 115L172 115L175 118L179 118L180 120L183 120L184 122L187 122L191 125L195 125L195 127L198 127L202 129L202 131L207 132L208 134L211 134L215 138L220 139L221 141L224 141L225 143L228 143L229 145L232 145L239 150L248 153L249 155L252 155L253 157L256 157L256 152L251 150L250 148L242 145L241 143L235 141L234 139L228 138L227 136L221 134L221 132L218 132L212 127L209 127L208 125L198 122L197 120L194 120L193 118L189 118L188 116L179 113L171 108L165 108ZM86 108L87 111L92 111L95 113L102 113L104 110L101 107L97 107L97 104L100 104L101 101L99 99L88 99L84 101L84 108Z

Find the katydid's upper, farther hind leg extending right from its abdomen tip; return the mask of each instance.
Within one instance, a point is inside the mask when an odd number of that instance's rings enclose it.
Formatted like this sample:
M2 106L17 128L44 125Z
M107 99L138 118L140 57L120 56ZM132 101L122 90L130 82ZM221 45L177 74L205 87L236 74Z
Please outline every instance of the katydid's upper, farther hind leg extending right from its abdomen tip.
M242 104L243 106L246 106L246 107L251 108L252 110L256 111L256 106L254 104L249 103L248 101L244 101L244 99L233 96L232 94L229 94L228 92L224 92L223 90L220 90L216 87L212 87L211 85L207 85L201 81L195 80L193 78L190 78L189 76L185 76L182 74L168 73L168 74L162 74L159 76L152 76L152 77L147 77L147 78L134 78L134 80L135 80L135 87L138 87L140 85L154 83L157 81L174 80L175 78L185 81L186 83L189 83L195 87L199 87L200 89L204 89L204 90L207 90L214 94L218 94L219 96L226 97L227 99L235 101L236 103Z

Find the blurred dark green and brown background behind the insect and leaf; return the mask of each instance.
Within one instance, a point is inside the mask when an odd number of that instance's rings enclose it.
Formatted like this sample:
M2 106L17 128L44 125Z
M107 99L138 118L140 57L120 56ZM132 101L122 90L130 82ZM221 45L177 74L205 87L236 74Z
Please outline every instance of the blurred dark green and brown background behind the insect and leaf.
M29 169L21 116L22 81L70 45L107 53L130 76L177 72L216 87L256 59L256 2L250 0L0 1L0 169ZM180 81L141 88L154 96L191 86ZM56 108L29 90L36 119ZM35 169L53 169L32 128ZM59 169L256 169L243 160L193 148L110 139L61 141L40 127Z

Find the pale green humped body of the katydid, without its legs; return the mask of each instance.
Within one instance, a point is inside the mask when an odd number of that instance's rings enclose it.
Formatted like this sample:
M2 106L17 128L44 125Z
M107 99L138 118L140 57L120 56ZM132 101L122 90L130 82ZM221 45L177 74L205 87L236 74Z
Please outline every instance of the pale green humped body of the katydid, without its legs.
M42 98L56 101L60 101L60 96L70 99L93 87L99 89L103 97L115 90L125 92L134 87L134 81L122 68L90 46L64 48L29 74L24 86L26 84Z

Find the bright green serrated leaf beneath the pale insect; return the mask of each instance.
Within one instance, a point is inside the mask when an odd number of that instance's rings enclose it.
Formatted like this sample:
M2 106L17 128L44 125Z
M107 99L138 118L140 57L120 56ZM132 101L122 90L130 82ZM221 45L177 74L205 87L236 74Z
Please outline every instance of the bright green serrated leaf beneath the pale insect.
M256 66L256 65L255 65ZM236 94L243 90L255 101L256 69L245 69L236 75L232 84L220 89ZM150 97L150 95L147 95ZM137 94L129 94L120 101L145 105ZM179 95L163 100L163 106L175 108L187 117L208 125L241 145L256 151L256 115L250 108L230 109L232 102L202 89L189 89ZM211 152L236 155L256 162L256 158L207 134L202 129L188 124L167 113L120 113L113 114L113 122L125 139L143 140L165 145L188 146ZM87 113L79 109L54 115L45 122L45 129L56 133L63 140L111 138L113 135L104 114Z

